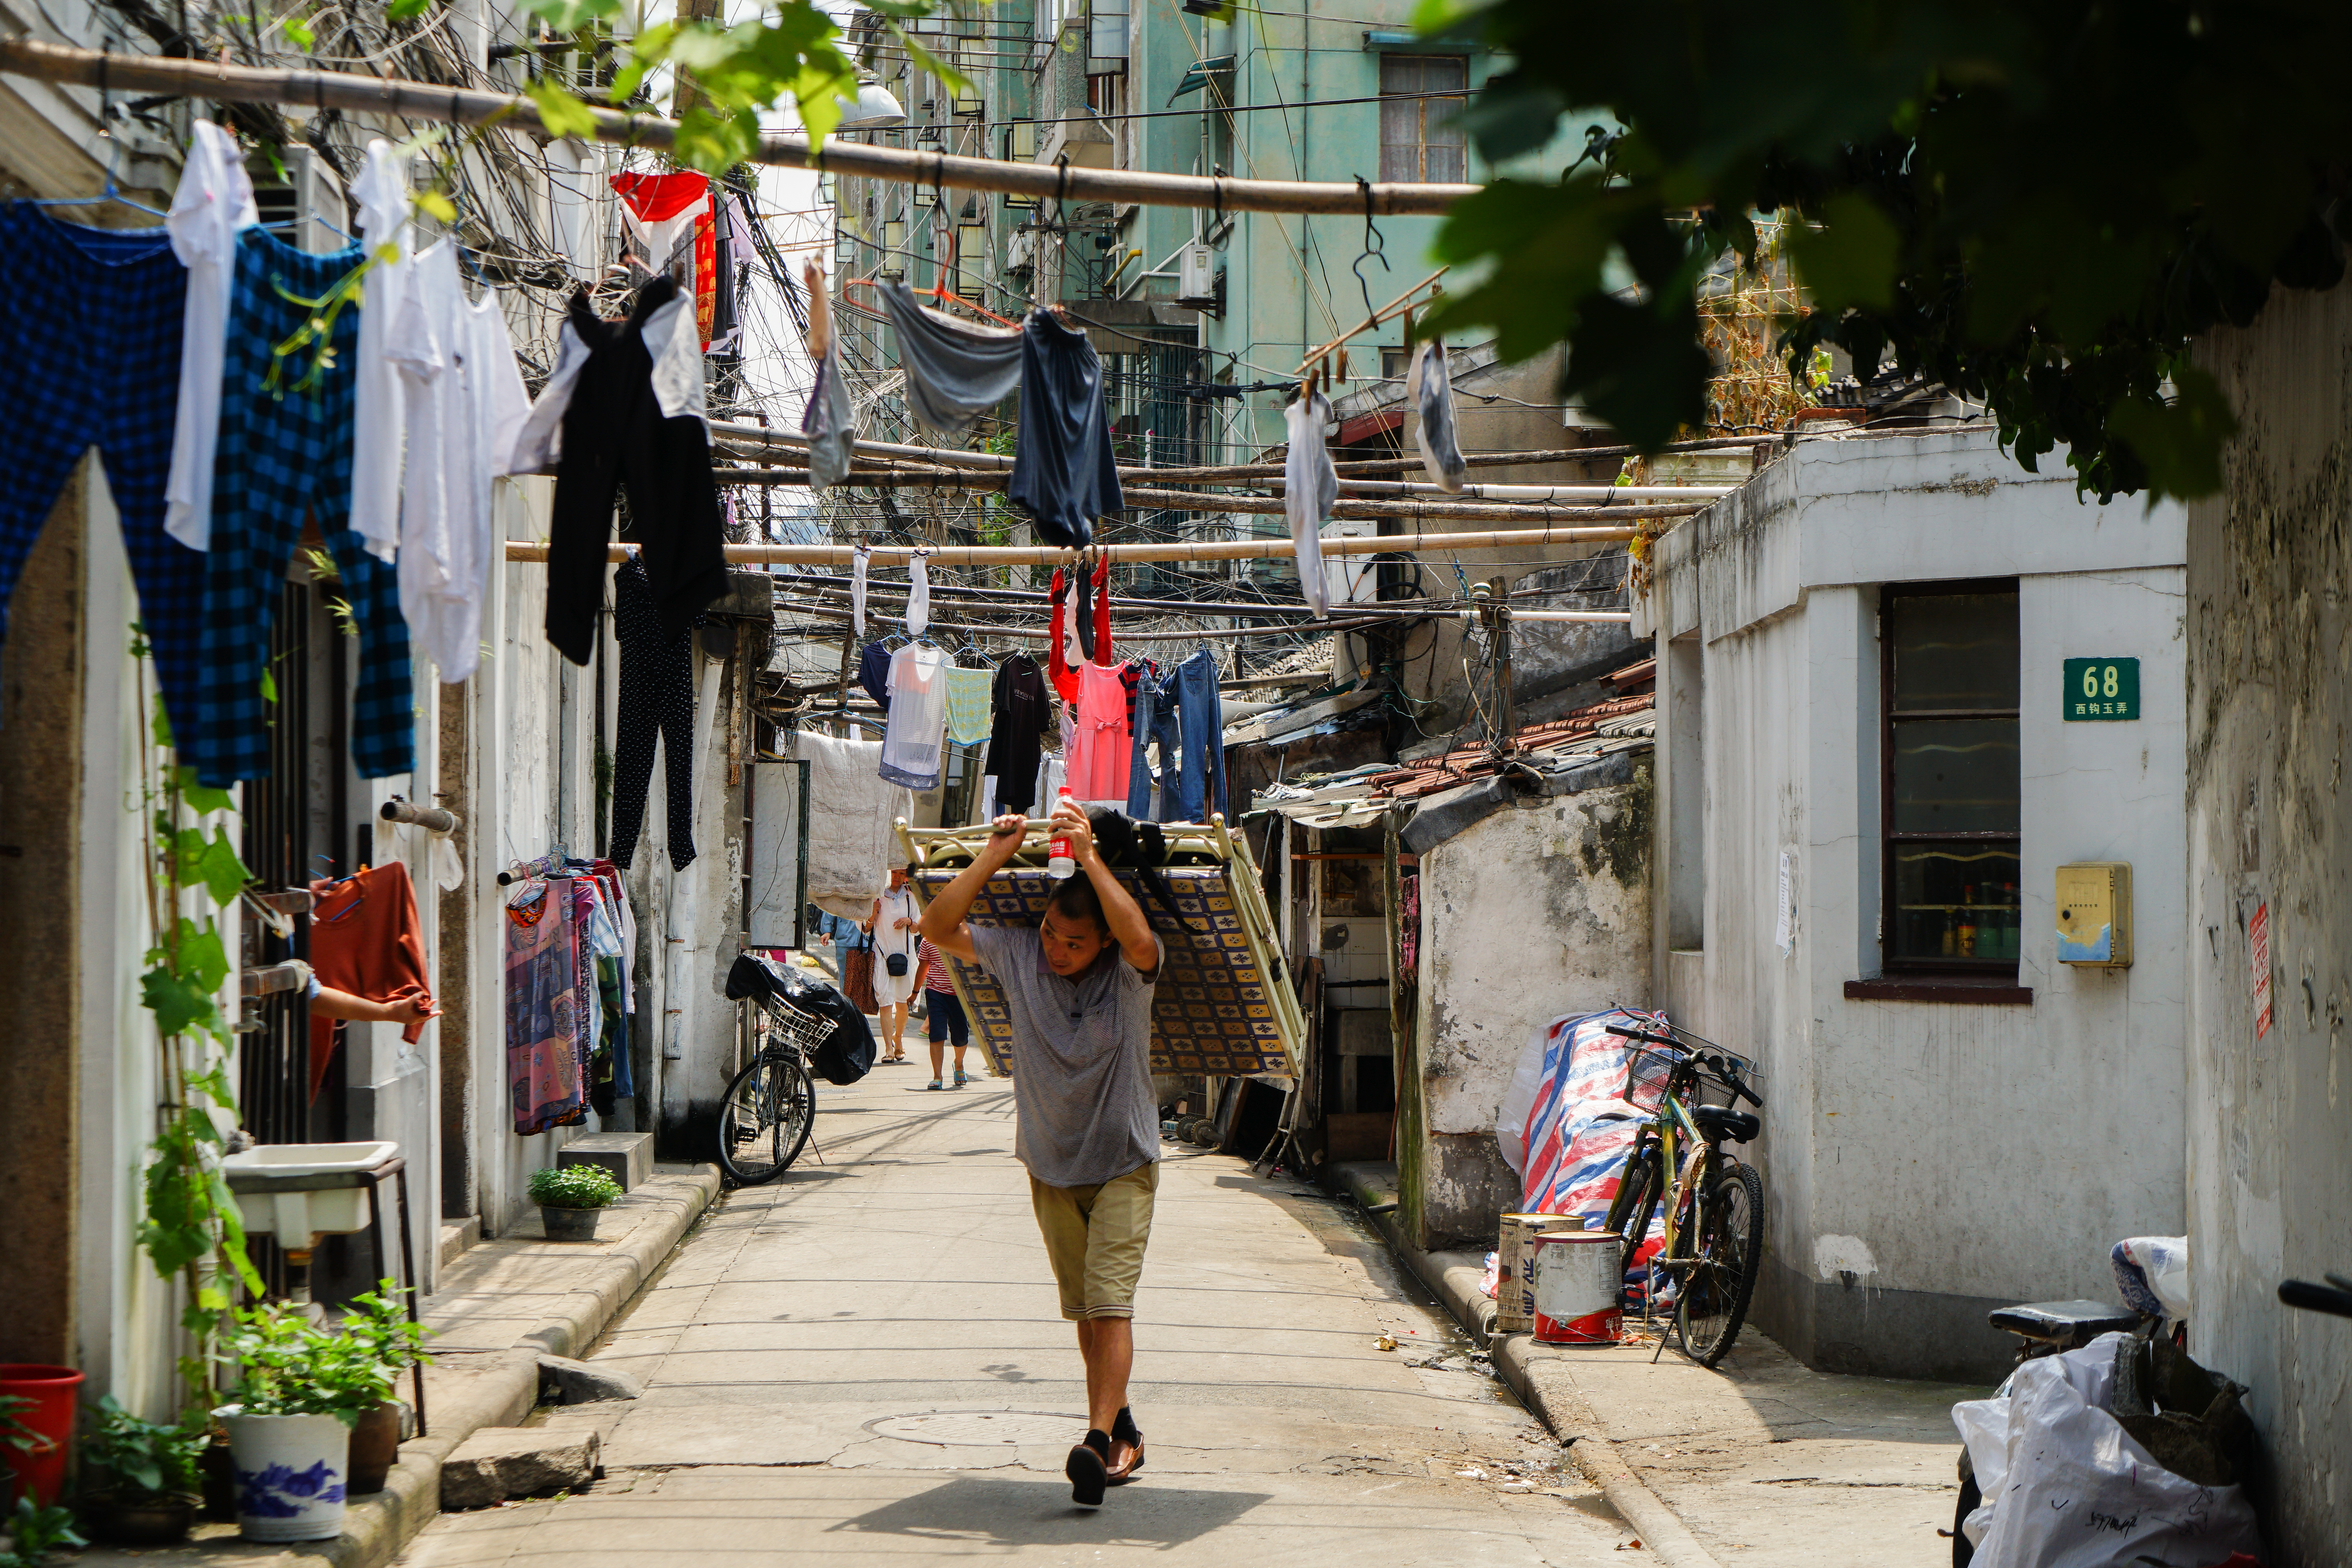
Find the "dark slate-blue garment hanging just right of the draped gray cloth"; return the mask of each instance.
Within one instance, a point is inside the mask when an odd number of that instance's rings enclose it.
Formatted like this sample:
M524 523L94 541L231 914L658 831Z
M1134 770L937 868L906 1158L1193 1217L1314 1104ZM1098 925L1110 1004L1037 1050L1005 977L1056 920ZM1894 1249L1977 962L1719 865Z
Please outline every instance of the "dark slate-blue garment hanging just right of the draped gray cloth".
M1127 505L1103 414L1103 362L1087 334L1051 310L1033 310L1021 334L1021 447L1007 498L1065 550L1084 550L1094 520Z

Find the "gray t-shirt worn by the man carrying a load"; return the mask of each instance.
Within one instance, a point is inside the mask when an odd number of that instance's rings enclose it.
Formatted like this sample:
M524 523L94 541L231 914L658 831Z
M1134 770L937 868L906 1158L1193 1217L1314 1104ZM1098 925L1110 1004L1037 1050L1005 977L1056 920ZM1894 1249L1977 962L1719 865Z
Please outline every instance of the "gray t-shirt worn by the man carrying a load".
M1160 940L1157 936L1152 940ZM1080 976L1044 966L1033 926L971 926L1014 1011L1014 1159L1049 1187L1094 1187L1160 1159L1152 985L1117 943Z

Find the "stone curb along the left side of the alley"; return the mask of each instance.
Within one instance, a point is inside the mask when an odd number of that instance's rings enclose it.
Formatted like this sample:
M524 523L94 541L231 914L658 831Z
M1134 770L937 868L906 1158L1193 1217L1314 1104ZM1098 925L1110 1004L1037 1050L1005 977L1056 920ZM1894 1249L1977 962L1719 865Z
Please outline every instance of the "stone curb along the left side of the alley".
M400 1446L400 1462L393 1465L383 1490L350 1502L339 1537L313 1549L296 1549L282 1561L303 1563L303 1568L310 1563L386 1568L428 1523L440 1519L442 1460L482 1427L515 1427L529 1418L539 1403L539 1356L579 1356L604 1333L604 1326L635 1300L694 1222L717 1201L720 1171L717 1166L670 1168L661 1173L663 1190L649 1187L640 1187L630 1197L654 1199L647 1204L654 1211L652 1218L621 1237L612 1251L581 1258L579 1284L572 1284L555 1300L553 1312L536 1328L524 1331L513 1349L452 1352L452 1366L463 1359L463 1366L475 1375L442 1380L440 1389L433 1387L433 1373L426 1373L430 1436ZM226 1561L226 1552L212 1554L207 1549L212 1544L195 1542L183 1561L202 1563L209 1556ZM235 1547L240 1559L252 1554L252 1542L238 1537L223 1537L216 1544Z

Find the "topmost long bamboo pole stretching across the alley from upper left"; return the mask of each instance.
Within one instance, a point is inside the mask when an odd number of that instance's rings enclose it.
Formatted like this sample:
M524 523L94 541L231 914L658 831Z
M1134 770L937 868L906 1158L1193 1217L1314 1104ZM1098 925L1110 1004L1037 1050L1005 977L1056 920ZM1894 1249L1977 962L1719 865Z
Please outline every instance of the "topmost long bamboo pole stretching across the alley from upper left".
M449 125L499 125L553 141L539 106L503 92L468 92L437 82L360 75L353 71L263 71L158 54L73 49L33 38L0 38L0 73L42 82L75 82L99 92L141 92L214 103L301 103L360 115L445 120ZM595 141L628 148L670 150L677 122L659 115L586 110ZM1218 212L1334 212L1345 216L1437 216L1479 186L1336 183L1289 179L1202 179L1195 174L1148 174L1136 169L1075 169L1070 165L950 158L913 148L877 148L863 141L764 134L743 162L781 169L823 169L858 179L946 190L1002 190L1058 202L1141 202L1145 207L1214 207Z

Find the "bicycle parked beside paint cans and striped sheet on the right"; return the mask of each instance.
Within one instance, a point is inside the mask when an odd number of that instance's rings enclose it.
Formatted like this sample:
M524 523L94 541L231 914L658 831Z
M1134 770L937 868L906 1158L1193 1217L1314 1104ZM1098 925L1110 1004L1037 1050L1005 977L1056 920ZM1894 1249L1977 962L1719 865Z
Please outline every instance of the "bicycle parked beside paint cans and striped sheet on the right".
M1722 1147L1726 1140L1750 1143L1764 1131L1757 1117L1731 1105L1748 1100L1764 1107L1752 1088L1759 1072L1745 1056L1672 1025L1665 1034L1613 1023L1604 1027L1653 1046L1635 1051L1628 1063L1628 1100L1637 1081L1658 1088L1658 1110L1625 1154L1606 1229L1625 1239L1623 1262L1630 1267L1668 1192L1665 1173L1675 1171L1665 1246L1651 1260L1651 1279L1658 1272L1675 1276L1682 1354L1715 1366L1748 1321L1764 1262L1764 1178ZM1726 1103L1705 1105L1700 1093L1719 1093Z

